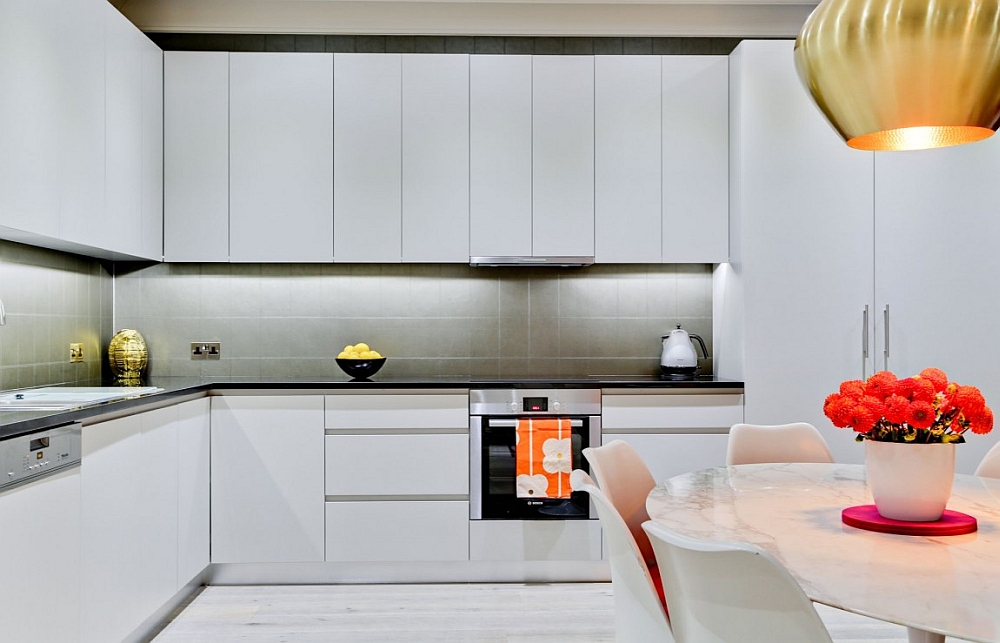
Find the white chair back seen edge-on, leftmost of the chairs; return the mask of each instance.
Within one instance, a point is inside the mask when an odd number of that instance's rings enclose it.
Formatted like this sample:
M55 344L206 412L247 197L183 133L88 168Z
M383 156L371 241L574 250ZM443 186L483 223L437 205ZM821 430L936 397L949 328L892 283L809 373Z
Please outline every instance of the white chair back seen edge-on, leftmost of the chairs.
M673 643L667 614L639 548L611 501L582 469L570 474L574 491L585 491L597 509L611 565L618 643Z

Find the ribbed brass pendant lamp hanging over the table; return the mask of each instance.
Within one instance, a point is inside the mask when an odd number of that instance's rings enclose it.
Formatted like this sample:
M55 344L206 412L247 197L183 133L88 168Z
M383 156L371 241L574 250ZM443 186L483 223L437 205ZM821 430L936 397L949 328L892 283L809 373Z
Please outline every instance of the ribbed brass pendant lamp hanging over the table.
M795 66L853 148L979 141L1000 125L1000 0L823 0Z

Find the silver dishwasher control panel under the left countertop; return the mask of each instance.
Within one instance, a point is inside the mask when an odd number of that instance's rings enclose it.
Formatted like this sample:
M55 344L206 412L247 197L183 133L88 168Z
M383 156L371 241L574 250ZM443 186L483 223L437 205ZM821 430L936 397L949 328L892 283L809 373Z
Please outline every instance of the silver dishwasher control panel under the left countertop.
M0 489L79 462L79 424L0 441Z

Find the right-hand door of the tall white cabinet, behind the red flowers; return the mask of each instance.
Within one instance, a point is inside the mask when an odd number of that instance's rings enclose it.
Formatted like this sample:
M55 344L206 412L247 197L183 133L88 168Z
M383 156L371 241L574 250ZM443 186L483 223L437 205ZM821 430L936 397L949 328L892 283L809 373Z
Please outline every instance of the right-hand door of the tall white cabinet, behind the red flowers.
M994 410L1000 408L1000 335L992 323L1000 310L993 297L1000 288L998 167L997 137L875 158L878 368L899 377L940 368L953 381L979 387ZM972 473L997 439L997 431L969 436L957 449L956 470Z

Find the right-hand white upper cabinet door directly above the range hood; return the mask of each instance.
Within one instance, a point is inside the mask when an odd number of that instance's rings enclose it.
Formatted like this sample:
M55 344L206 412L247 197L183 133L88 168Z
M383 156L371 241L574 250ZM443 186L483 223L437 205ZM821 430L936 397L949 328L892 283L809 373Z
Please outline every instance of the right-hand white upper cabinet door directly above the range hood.
M532 58L532 254L594 255L594 58Z

